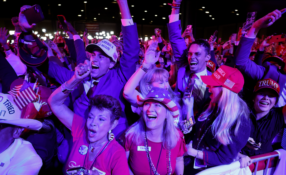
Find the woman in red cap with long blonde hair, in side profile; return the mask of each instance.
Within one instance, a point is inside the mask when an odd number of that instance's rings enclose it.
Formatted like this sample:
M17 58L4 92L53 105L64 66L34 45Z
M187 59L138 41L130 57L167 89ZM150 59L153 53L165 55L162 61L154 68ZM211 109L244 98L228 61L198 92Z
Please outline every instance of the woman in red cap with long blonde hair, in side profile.
M196 120L195 135L185 153L195 157L195 165L185 166L184 174L196 174L198 168L230 164L250 135L249 109L238 95L244 84L240 71L223 65L212 75L201 78L212 93L211 102ZM189 95L185 92L183 97L188 119L193 115L193 98Z

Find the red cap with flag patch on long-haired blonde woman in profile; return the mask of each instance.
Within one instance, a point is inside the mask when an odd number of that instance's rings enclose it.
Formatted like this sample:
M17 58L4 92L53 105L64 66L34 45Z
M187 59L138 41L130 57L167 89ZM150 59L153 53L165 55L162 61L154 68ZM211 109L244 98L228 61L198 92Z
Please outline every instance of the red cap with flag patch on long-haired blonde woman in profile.
M223 86L235 93L239 93L244 84L243 75L236 68L222 65L212 75L200 76L209 86Z

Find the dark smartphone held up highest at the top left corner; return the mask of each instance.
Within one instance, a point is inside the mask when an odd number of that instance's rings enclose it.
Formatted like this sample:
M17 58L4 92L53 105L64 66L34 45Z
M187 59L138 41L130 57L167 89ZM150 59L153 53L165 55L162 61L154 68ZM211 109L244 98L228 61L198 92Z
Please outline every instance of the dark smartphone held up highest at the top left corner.
M24 15L29 25L36 24L45 19L42 9L39 4L32 6L24 11Z

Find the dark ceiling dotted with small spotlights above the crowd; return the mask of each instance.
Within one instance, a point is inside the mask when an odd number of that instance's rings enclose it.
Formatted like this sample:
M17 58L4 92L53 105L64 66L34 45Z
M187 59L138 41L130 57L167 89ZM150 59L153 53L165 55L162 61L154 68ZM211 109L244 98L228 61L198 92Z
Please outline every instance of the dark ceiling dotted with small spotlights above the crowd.
M64 15L67 20L88 20L97 22L120 22L119 8L114 0L84 0L80 1L34 1L30 0L28 5L39 4L46 20L57 20L57 15ZM128 5L133 21L137 24L166 25L168 15L171 13L169 5L172 0L130 0ZM11 18L18 16L20 7L27 4L24 1L1 0L1 17ZM61 4L61 6L58 6ZM86 9L85 9L86 5ZM131 7L134 6L134 7ZM202 8L205 7L205 8ZM286 7L286 1L189 1L184 0L181 6L181 16L188 23L196 23L198 27L215 26L236 22L245 22L247 12L257 11L257 18L267 13ZM107 8L107 9L105 9ZM201 9L201 10L199 10ZM83 11L81 11L83 10ZM144 12L144 11L147 12ZM238 10L238 11L235 11ZM208 11L210 13L205 13ZM239 15L236 15L236 14ZM85 15L86 14L86 15ZM100 15L99 15L100 14ZM187 16L187 15L188 16ZM78 15L81 15L80 17ZM157 16L155 16L157 15ZM212 17L209 17L212 15ZM87 18L86 18L87 17ZM165 17L166 19L162 19ZM212 20L214 18L214 20ZM145 20L142 20L145 19ZM152 22L151 22L152 21Z

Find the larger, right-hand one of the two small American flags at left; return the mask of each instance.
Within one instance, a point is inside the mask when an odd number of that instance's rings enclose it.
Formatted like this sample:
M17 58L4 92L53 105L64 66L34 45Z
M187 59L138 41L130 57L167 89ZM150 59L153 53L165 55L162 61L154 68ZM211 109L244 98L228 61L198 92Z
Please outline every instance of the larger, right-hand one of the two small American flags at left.
M30 84L25 80L23 82L22 87L20 88L20 91L18 91L17 95L15 96L14 100L19 109L22 109L30 102L34 101L36 98L36 93L33 91Z

